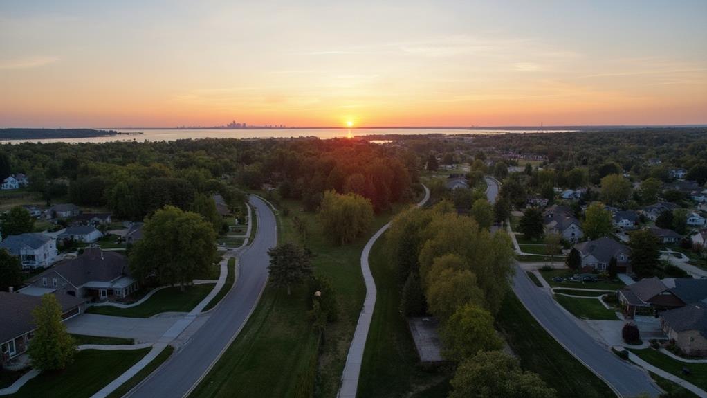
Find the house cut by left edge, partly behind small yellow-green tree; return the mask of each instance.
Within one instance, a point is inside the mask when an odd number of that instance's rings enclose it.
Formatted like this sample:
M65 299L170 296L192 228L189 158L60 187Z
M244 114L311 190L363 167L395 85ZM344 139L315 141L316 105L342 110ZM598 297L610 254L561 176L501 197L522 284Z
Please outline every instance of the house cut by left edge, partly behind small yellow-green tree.
M62 306L62 320L68 320L84 309L84 300L67 294L56 294ZM32 311L42 298L36 295L0 291L0 365L27 351L37 329Z

